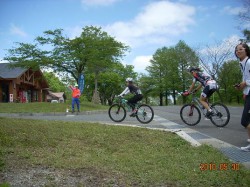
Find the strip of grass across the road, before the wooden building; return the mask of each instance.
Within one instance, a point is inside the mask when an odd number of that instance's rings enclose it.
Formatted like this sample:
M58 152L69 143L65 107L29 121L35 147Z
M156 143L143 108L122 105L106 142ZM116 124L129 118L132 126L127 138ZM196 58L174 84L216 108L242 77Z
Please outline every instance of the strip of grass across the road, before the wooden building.
M0 113L66 112L67 108L71 110L70 103L0 103ZM80 105L81 111L107 110L107 108L108 106L93 104L91 102L82 102Z

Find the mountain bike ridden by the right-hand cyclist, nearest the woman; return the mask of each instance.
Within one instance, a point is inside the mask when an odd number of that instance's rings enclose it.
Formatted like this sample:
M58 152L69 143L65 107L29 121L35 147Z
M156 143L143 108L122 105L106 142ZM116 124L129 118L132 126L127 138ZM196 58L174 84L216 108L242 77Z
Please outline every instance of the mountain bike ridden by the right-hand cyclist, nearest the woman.
M190 94L192 95L192 101L191 103L182 106L180 116L185 124L194 126L200 122L201 113L206 116L207 110L195 96L195 92ZM230 112L228 108L219 102L213 104L208 102L208 105L213 111L211 117L209 117L210 121L217 127L226 126L230 120Z

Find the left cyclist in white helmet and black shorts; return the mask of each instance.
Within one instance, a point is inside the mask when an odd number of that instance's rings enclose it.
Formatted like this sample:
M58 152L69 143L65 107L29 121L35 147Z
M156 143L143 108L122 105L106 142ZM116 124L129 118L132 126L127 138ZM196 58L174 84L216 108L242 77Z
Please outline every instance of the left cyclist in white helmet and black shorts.
M136 113L136 109L135 109L135 105L138 101L141 101L143 98L142 92L141 90L134 85L133 79L132 78L127 78L126 79L126 84L127 87L125 88L125 90L118 96L123 97L124 95L127 95L128 93L132 93L134 94L133 97L131 97L130 99L128 99L128 105L132 108L132 113L130 114L131 117L135 116Z

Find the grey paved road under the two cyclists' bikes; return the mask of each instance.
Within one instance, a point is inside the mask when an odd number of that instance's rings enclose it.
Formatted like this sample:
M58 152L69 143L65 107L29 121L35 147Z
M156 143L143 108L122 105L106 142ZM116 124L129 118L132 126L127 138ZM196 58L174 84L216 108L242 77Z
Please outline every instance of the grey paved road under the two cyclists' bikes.
M202 118L199 124L196 126L188 126L184 124L179 115L179 111L181 106L156 106L153 107L155 111L155 115L165 118L169 121L175 122L183 127L188 127L193 130L199 131L203 134L211 136L213 138L225 141L229 144L232 144L237 147L246 146L247 145L247 132L240 125L240 118L243 107L229 107L229 111L231 114L231 119L229 124L224 128L218 128L214 126L209 120L205 120ZM20 116L18 116L20 117ZM42 116L42 115L31 115L31 116L21 116L23 118L30 119L43 119L43 120L63 120L63 121L88 121L88 122L99 122L99 123L111 123L115 124L108 117L107 112L99 112L97 114L89 114L89 115L51 115L51 116ZM203 116L202 116L203 117ZM130 125L140 125L136 118L131 118L129 116L120 123L130 124ZM159 124L157 121L152 121L149 125L151 127L157 126ZM147 125L148 126L148 125Z

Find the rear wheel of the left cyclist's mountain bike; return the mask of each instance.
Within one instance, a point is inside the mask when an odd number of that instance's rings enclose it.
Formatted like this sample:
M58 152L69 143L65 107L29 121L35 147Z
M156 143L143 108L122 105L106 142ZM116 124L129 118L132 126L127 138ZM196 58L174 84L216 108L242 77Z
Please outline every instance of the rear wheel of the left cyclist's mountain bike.
M154 110L149 105L142 104L138 107L136 118L141 123L149 123L154 119Z

